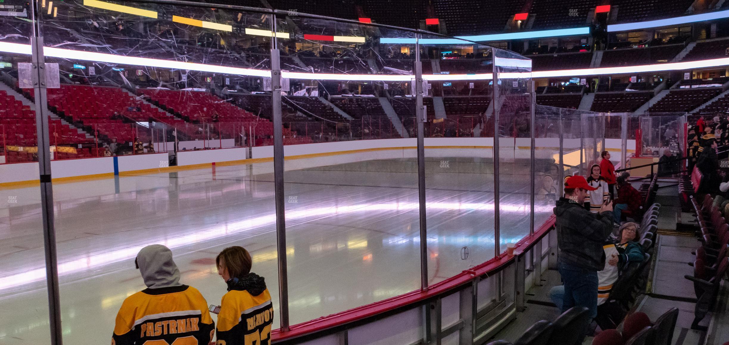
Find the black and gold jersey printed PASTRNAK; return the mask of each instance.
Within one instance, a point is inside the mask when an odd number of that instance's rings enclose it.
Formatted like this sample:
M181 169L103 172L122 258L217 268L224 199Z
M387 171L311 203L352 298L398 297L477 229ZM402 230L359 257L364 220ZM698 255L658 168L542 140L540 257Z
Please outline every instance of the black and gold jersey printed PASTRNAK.
M112 345L208 345L215 325L195 287L145 289L122 303Z

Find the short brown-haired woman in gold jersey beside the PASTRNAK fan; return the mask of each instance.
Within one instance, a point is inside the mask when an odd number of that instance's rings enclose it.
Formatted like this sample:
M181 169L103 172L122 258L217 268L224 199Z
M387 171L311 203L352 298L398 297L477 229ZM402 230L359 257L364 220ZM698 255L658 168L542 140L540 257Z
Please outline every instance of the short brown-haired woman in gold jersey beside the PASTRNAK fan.
M218 274L227 284L220 303L217 344L270 344L273 304L262 276L251 272L251 254L227 247L215 257Z

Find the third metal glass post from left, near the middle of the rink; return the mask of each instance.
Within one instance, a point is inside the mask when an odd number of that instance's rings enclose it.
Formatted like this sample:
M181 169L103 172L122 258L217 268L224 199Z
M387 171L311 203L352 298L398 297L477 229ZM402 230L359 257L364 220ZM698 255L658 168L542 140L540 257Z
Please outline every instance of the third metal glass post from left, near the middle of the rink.
M425 144L424 123L427 120L423 106L423 65L420 61L420 34L415 43L415 100L418 123L418 201L420 203L420 288L428 290L428 230L426 228L425 201Z

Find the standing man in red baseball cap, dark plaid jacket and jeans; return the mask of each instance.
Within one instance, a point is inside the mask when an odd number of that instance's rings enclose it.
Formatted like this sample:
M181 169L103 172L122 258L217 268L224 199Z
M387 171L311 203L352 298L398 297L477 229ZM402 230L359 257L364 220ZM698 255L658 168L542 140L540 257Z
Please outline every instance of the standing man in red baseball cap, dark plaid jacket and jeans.
M585 177L568 177L564 182L564 197L554 208L558 269L564 282L562 311L573 306L585 306L592 317L597 316L597 272L605 267L603 242L612 232L612 203L607 201L598 213L585 209L588 185Z

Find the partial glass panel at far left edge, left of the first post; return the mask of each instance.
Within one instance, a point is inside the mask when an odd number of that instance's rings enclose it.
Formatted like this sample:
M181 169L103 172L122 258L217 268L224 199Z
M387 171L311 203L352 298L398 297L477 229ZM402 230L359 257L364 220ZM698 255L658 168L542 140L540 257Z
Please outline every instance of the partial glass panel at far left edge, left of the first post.
M29 1L0 8L0 343L50 344L36 105L19 77L32 70ZM19 44L19 45L15 45ZM22 45L21 45L22 44ZM26 64L26 65L22 65ZM27 73L19 76L20 70ZM32 84L30 85L32 87ZM53 131L50 120L50 131ZM67 238L66 238L67 239ZM70 317L70 313L62 317ZM70 327L63 325L63 330ZM105 341L108 341L108 336Z

